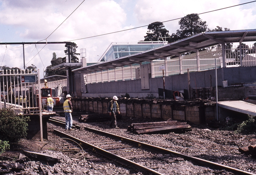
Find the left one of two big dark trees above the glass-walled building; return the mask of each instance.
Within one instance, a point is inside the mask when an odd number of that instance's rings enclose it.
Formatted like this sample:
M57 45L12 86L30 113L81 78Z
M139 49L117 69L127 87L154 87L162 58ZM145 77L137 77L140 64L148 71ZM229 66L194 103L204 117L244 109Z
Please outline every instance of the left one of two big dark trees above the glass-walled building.
M158 41L160 37L169 37L169 31L164 28L162 22L153 22L148 25L147 35L144 36L144 41Z

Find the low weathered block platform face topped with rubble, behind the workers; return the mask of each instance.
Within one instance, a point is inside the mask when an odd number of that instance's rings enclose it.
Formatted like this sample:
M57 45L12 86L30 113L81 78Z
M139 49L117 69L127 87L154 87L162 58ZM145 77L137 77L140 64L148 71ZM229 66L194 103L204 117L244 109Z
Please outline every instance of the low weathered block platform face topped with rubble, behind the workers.
M94 113L108 113L108 104L111 99L100 98L72 98L74 111ZM156 104L153 100L118 100L120 113L128 117L162 118L164 120L184 120L196 124L203 124L214 120L216 104L210 106L181 106L170 101L160 101ZM83 106L85 105L85 106Z

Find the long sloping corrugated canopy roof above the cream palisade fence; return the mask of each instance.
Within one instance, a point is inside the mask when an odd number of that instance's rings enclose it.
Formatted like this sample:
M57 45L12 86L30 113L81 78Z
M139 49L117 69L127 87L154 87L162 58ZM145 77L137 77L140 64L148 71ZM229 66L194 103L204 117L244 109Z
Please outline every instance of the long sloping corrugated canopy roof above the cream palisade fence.
M170 56L179 56L179 54L191 51L196 52L198 49L214 46L217 44L234 42L242 43L249 41L256 41L256 29L204 32L144 52L73 69L72 71L91 73L95 71L114 69L116 67L122 67L125 65L130 66L134 63L140 64L140 62L150 62L156 59L164 59Z

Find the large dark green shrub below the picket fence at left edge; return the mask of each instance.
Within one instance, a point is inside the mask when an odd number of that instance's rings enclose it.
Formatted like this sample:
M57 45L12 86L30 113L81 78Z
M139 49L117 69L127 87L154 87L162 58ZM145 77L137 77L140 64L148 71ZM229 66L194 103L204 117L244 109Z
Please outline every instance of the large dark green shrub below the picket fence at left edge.
M11 108L0 109L0 140L18 142L27 135L29 117L16 116Z

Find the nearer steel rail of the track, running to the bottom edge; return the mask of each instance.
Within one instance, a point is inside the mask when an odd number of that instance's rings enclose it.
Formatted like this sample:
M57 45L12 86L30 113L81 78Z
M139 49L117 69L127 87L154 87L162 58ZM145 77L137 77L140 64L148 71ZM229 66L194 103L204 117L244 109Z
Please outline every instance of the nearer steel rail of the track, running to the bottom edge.
M120 157L120 156L118 156L116 154L113 154L113 153L111 153L109 151L106 151L106 150L101 149L101 148L99 148L97 146L94 146L94 145L92 145L92 144L90 144L88 142L85 142L85 141L80 140L80 139L78 139L76 137L73 137L72 135L68 135L68 134L63 133L61 131L58 131L56 129L53 129L53 132L57 133L58 135L62 135L62 136L65 136L65 137L67 137L69 139L75 140L76 142L79 142L80 145L83 145L84 147L86 147L86 148L88 148L88 149L90 149L92 151L95 151L96 153L98 153L98 154L100 154L100 155L102 155L104 157L107 157L107 158L109 158L109 159L111 159L113 161L116 161L118 163L121 163L123 165L130 165L130 166L136 167L136 168L138 168L138 169L140 169L142 171L150 172L150 173L153 173L153 174L156 174L156 175L164 175L164 174L162 174L160 172L154 171L154 170L152 170L150 168L147 168L147 167L145 167L143 165L140 165L140 164L137 164L135 162L132 162L131 160L128 160L128 159L126 159L124 157Z

